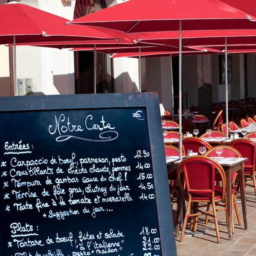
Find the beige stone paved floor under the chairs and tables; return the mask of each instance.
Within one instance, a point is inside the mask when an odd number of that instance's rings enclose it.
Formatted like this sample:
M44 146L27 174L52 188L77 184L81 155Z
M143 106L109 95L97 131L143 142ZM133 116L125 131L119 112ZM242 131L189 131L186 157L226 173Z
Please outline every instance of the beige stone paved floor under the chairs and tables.
M173 204L173 218L175 219L175 203ZM256 197L254 188L247 186L246 188L246 205L247 205L247 222L248 229L244 229L242 206L239 202L238 194L238 209L242 226L237 225L236 213L235 234L233 240L228 240L227 225L225 211L217 213L218 225L220 229L220 243L217 243L215 225L212 218L209 218L207 225L204 224L204 219L201 218L198 227L206 230L205 234L198 236L185 236L183 242L180 242L180 237L175 238L178 256L255 256L256 255Z

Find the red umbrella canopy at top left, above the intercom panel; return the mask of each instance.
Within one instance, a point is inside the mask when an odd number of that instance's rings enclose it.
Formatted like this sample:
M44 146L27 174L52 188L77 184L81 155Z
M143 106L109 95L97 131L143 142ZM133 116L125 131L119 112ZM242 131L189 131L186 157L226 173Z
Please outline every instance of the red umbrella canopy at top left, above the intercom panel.
M0 44L40 42L47 40L118 40L108 29L66 26L68 20L26 4L9 2L0 5ZM83 39L81 39L83 38Z

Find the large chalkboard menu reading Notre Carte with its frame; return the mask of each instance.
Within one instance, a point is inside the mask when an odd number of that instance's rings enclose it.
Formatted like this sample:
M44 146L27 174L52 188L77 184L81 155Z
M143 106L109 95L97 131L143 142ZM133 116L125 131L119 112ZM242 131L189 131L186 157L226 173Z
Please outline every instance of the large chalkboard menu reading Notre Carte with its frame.
M0 98L0 255L176 255L155 93Z

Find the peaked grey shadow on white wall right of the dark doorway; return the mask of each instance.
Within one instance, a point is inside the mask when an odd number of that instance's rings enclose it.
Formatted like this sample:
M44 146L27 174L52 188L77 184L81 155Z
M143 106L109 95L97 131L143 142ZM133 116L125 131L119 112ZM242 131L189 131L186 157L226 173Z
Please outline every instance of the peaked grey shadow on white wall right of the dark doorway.
M114 80L115 92L139 92L139 85L132 81L128 72L123 72Z

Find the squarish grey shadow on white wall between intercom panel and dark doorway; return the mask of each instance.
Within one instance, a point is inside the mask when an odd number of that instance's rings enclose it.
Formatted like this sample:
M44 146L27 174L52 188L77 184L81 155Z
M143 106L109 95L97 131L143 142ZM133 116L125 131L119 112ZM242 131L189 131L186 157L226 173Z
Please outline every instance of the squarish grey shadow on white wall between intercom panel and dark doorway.
M59 94L74 93L74 82L72 83L73 80L74 74L61 74L53 76L53 84L58 90Z

